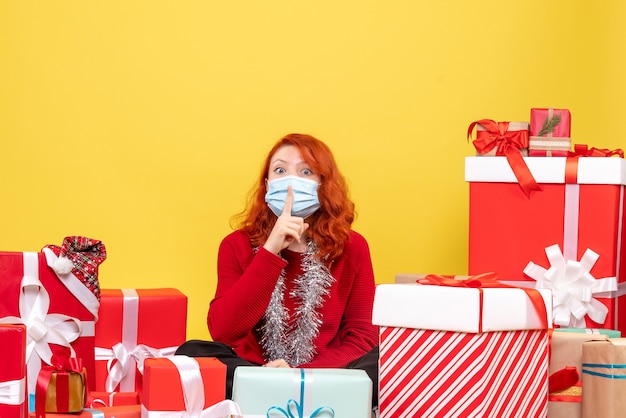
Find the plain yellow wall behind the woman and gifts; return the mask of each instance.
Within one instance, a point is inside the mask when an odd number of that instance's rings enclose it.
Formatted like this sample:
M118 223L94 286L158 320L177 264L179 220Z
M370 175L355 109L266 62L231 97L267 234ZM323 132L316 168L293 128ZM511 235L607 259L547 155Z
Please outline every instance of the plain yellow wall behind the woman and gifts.
M378 282L463 274L468 125L564 107L574 143L624 147L624 21L620 0L0 0L0 249L100 239L103 287L177 287L209 338L229 219L304 132Z

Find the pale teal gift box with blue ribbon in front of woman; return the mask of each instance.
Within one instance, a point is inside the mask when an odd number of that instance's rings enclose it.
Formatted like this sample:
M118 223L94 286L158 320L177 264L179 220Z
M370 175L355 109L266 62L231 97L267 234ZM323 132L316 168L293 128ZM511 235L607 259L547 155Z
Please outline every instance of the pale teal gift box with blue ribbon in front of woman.
M372 380L354 369L239 366L233 401L246 418L370 418Z

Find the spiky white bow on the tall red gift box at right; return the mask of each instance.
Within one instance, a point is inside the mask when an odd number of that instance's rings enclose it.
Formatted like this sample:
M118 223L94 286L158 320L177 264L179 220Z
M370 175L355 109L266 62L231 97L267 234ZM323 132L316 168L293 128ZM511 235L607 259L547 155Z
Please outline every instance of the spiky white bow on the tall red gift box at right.
M547 247L546 255L549 269L531 261L524 268L524 273L537 281L537 289L552 291L554 323L585 328L585 315L588 315L594 322L603 324L608 308L593 295L616 291L617 278L593 277L590 271L600 256L588 248L580 261L569 260L557 244Z

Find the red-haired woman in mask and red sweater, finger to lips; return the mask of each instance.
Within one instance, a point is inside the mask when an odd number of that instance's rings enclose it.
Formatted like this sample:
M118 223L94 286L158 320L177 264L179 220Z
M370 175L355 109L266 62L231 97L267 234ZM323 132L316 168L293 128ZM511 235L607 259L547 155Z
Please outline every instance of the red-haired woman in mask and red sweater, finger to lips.
M328 146L310 135L280 139L238 220L218 253L214 342L188 341L177 354L226 363L228 397L239 365L364 369L376 403L372 262Z

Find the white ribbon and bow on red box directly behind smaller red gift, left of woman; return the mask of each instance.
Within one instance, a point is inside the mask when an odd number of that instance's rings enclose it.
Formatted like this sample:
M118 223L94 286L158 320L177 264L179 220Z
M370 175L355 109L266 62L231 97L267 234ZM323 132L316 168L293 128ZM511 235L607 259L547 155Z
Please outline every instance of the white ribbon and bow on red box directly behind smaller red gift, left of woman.
M135 390L135 369L143 374L143 363L147 358L174 355L178 347L154 348L137 344L139 317L139 295L135 289L122 289L124 295L122 312L122 341L111 348L96 347L95 359L107 361L105 390L113 392Z

